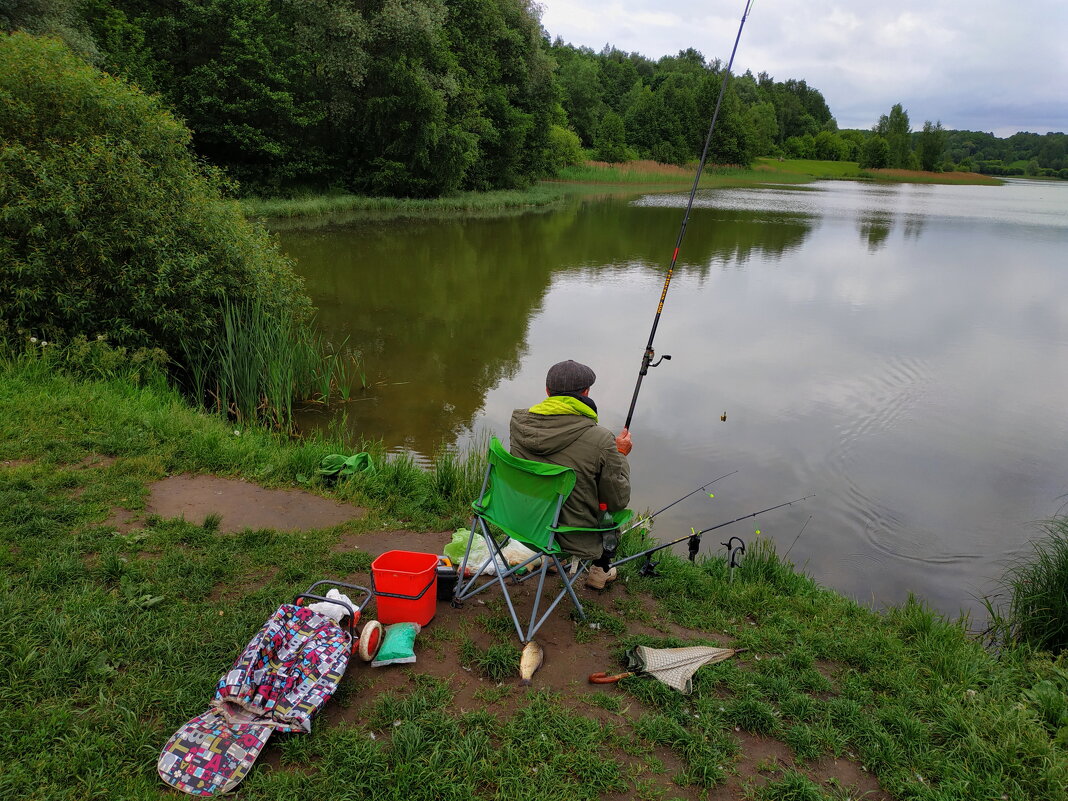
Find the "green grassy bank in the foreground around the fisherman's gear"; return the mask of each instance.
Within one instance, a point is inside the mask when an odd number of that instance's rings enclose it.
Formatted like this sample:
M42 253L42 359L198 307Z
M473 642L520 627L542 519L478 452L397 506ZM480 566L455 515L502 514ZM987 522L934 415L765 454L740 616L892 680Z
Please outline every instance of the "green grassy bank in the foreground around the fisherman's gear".
M367 570L365 554L337 548L343 537L466 518L476 461L304 483L331 443L235 428L151 375L139 381L0 361L4 798L173 798L155 773L159 749L203 711L276 606L319 578ZM120 533L108 522L180 472L310 487L368 515L293 533L152 517ZM280 738L274 767L257 766L239 798L723 798L748 752L772 747L778 756L760 758L732 797L857 798L821 779L820 766L838 763L901 801L1068 797L1056 706L1068 673L1048 657L995 658L918 602L876 614L799 575L767 541L751 543L733 578L717 557L669 556L662 571L627 571L592 604L597 628L576 626L556 656L600 647L622 660L634 644L749 649L698 671L693 695L647 677L581 703L521 691L506 678L518 654L511 624L490 600L474 629L450 633L439 619L421 637L421 662L429 649L456 651L465 670L434 677L417 663L398 689L372 697L346 676L329 707L341 713L320 716L310 736ZM646 633L626 633L634 621Z

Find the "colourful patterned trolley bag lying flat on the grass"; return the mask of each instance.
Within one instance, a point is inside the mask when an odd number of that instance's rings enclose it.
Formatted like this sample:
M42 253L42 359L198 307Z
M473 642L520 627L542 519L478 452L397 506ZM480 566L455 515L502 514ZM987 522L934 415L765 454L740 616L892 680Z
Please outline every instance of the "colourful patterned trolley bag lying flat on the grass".
M351 647L351 633L329 617L283 603L219 679L210 708L163 747L160 778L193 796L234 789L271 734L311 732Z

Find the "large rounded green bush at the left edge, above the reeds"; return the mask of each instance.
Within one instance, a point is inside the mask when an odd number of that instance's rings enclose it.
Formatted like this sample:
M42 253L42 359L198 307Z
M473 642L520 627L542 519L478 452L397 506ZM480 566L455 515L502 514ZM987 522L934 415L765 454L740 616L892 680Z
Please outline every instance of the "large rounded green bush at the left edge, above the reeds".
M230 302L305 319L266 232L155 97L60 42L0 37L0 339L210 343Z

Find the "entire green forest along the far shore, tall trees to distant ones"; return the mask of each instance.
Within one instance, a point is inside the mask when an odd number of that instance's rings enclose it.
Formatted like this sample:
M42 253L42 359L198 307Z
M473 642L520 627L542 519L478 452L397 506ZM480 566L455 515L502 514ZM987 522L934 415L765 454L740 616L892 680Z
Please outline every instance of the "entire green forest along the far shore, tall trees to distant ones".
M14 0L0 26L62 40L163 97L245 194L440 197L587 160L701 155L724 64L552 40L529 0ZM803 79L735 76L708 160L1068 178L1064 134L913 130L894 106L839 130Z

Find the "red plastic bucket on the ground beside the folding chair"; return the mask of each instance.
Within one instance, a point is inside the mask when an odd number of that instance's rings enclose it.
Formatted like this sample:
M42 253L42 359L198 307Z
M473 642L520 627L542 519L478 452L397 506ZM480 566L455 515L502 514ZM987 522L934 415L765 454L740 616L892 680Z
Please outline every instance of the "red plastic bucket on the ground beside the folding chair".
M371 563L371 590L381 623L434 619L438 602L438 556L413 551L387 551Z

